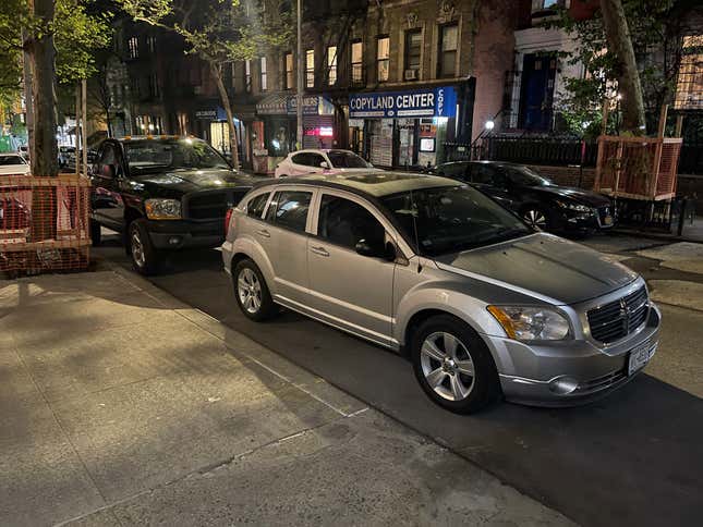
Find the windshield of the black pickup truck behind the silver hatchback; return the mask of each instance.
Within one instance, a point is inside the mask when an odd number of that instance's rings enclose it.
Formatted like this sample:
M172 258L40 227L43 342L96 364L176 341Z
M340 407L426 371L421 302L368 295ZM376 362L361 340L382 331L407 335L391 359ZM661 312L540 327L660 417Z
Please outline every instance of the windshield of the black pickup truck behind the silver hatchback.
M194 139L124 143L130 170L137 173L187 169L229 169L227 161L207 143Z

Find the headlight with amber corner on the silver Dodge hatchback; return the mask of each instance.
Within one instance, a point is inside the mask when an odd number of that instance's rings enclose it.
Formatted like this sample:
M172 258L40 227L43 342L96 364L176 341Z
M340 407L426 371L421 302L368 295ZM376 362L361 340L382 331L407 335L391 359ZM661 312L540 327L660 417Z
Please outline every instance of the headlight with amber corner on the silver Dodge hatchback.
M569 336L569 320L543 307L488 306L488 311L518 341L559 341Z

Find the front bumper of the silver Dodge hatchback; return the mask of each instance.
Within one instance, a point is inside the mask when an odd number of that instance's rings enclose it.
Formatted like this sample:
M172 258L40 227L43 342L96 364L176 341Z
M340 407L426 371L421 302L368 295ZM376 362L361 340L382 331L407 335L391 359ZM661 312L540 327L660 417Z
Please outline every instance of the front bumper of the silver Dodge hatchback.
M537 406L574 406L589 403L627 384L632 350L655 350L660 312L651 304L646 322L622 343L607 351L587 341L531 345L484 335L494 356L499 357L500 385L507 400ZM573 389L563 393L561 387Z

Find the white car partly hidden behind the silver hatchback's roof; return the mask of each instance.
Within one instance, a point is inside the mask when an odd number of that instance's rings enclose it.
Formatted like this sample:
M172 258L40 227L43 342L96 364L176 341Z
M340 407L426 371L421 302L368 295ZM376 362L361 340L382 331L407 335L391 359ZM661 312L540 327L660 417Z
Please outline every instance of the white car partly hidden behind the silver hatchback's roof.
M296 150L276 167L276 177L307 174L367 174L383 172L351 150Z

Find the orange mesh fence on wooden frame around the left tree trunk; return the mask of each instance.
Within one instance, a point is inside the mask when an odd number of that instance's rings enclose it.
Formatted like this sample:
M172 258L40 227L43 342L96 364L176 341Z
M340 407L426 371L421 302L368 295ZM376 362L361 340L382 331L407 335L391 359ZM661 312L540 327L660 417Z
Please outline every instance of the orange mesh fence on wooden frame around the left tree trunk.
M89 208L85 177L0 176L0 272L86 269Z

